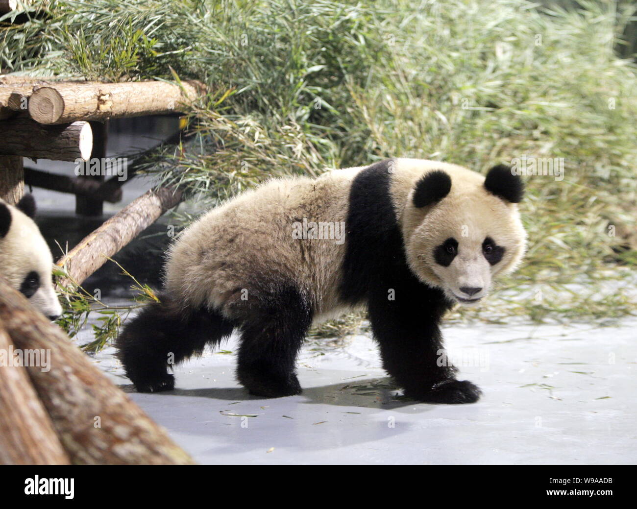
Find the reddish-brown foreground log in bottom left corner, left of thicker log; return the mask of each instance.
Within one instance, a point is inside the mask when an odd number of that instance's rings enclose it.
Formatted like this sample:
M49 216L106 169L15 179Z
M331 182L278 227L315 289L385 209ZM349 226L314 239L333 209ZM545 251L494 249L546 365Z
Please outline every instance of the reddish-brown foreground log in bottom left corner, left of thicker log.
M0 352L0 464L69 464L26 368L13 362L17 350L2 325Z

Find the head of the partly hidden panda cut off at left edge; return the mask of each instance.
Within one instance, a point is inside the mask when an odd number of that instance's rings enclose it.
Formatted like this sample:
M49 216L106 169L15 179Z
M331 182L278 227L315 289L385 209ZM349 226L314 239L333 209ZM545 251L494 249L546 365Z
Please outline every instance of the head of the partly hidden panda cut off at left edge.
M11 287L50 319L62 314L53 287L53 257L31 219L35 202L24 196L17 206L0 201L0 266Z

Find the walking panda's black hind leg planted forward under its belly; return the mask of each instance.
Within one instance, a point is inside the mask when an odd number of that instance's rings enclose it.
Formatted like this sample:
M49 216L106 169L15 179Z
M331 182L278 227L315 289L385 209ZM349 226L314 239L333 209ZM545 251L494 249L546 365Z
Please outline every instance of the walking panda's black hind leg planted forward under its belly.
M308 299L292 287L258 301L258 308L241 326L237 380L255 396L299 394L296 356L311 326Z

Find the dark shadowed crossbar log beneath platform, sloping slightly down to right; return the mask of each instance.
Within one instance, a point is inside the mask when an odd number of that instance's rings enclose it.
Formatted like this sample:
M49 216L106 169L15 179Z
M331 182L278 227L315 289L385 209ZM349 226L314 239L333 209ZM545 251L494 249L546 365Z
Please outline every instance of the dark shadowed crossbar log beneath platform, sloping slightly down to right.
M52 191L68 192L90 199L108 201L108 203L117 203L122 199L120 187L107 186L106 183L89 180L85 177L73 178L33 168L24 169L24 183Z

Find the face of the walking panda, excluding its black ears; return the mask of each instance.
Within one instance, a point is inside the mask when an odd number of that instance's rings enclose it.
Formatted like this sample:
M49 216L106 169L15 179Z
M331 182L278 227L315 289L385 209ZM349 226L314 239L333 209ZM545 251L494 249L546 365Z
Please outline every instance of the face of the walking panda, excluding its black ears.
M476 305L489 294L494 277L515 268L524 254L517 204L485 189L482 180L454 189L450 179L436 178L429 179L428 189L442 186L443 197L425 205L406 243L408 261L421 280L451 301Z

